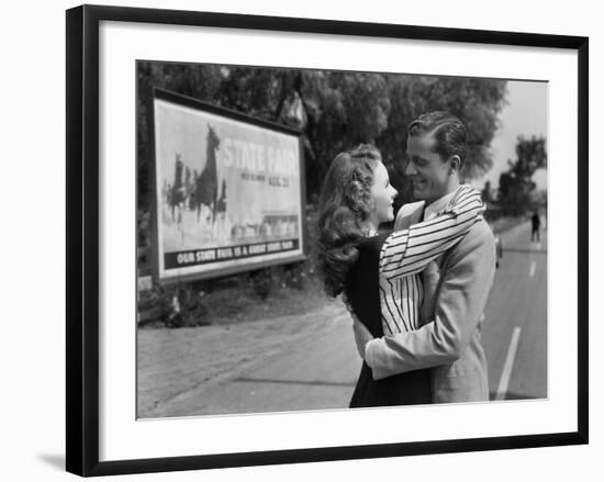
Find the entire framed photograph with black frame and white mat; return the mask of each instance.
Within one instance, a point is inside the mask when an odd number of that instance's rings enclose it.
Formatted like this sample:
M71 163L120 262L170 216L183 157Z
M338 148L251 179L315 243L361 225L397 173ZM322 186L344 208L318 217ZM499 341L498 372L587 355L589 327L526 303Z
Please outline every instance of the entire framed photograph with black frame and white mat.
M69 472L588 444L589 41L454 26L67 11Z

